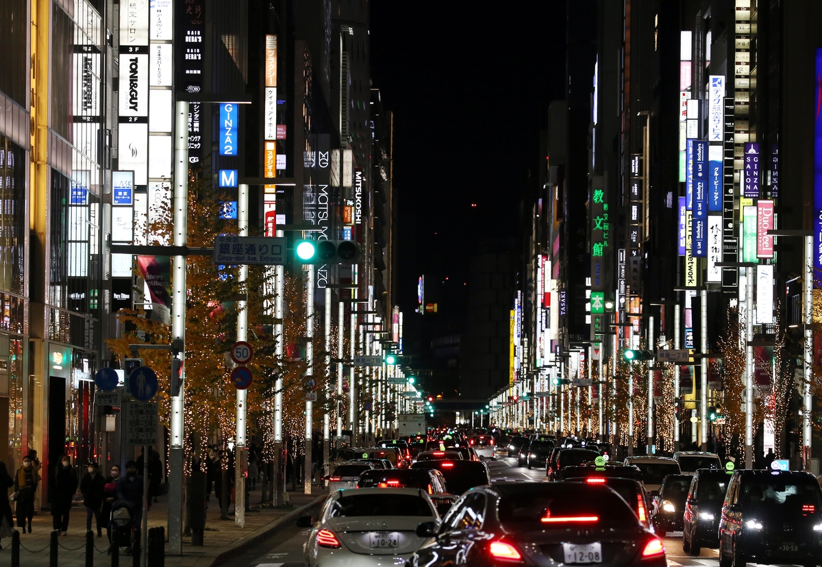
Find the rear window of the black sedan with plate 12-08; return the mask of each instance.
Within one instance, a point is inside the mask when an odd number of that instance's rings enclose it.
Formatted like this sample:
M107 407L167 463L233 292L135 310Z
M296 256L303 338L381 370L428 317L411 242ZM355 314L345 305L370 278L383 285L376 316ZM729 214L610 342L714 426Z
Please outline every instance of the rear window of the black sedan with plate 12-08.
M509 531L638 523L626 501L614 492L604 486L570 482L506 486L499 503L499 519Z

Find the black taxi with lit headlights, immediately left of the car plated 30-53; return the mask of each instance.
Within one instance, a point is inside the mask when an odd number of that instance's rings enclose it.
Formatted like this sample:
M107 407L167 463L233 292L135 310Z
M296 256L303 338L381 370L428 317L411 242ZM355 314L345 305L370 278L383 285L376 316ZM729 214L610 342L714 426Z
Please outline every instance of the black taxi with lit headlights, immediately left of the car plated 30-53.
M682 551L700 555L702 547L718 547L718 522L732 472L700 468L690 483L682 517Z

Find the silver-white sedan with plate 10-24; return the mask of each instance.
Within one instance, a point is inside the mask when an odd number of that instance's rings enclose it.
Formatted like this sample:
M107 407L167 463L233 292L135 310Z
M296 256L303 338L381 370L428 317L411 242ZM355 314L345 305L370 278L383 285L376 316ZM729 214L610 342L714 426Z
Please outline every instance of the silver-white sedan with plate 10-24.
M439 524L431 499L418 488L360 488L332 492L303 546L307 567L405 565L427 541L416 533L423 522Z

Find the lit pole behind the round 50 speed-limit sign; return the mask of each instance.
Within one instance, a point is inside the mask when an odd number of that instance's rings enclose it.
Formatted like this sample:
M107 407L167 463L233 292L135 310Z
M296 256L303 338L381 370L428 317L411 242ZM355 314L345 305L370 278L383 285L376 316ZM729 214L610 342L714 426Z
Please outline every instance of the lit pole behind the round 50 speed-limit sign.
M238 187L237 228L239 236L248 236L248 186L241 183ZM248 280L248 265L240 266L238 282L244 288ZM247 290L243 297L248 297ZM237 340L248 338L248 302L242 299L237 302ZM234 408L237 419L237 433L234 439L234 523L238 528L246 526L246 415L247 391L237 390L237 403Z

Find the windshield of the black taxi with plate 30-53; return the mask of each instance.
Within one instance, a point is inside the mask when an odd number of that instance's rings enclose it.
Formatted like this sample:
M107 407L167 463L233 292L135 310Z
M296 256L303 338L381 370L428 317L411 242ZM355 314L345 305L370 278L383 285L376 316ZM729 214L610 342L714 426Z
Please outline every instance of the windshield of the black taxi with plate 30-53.
M806 507L808 512L820 514L822 511L822 493L815 481L784 479L774 476L755 478L742 482L739 502L745 508L768 507L784 511L801 511Z

